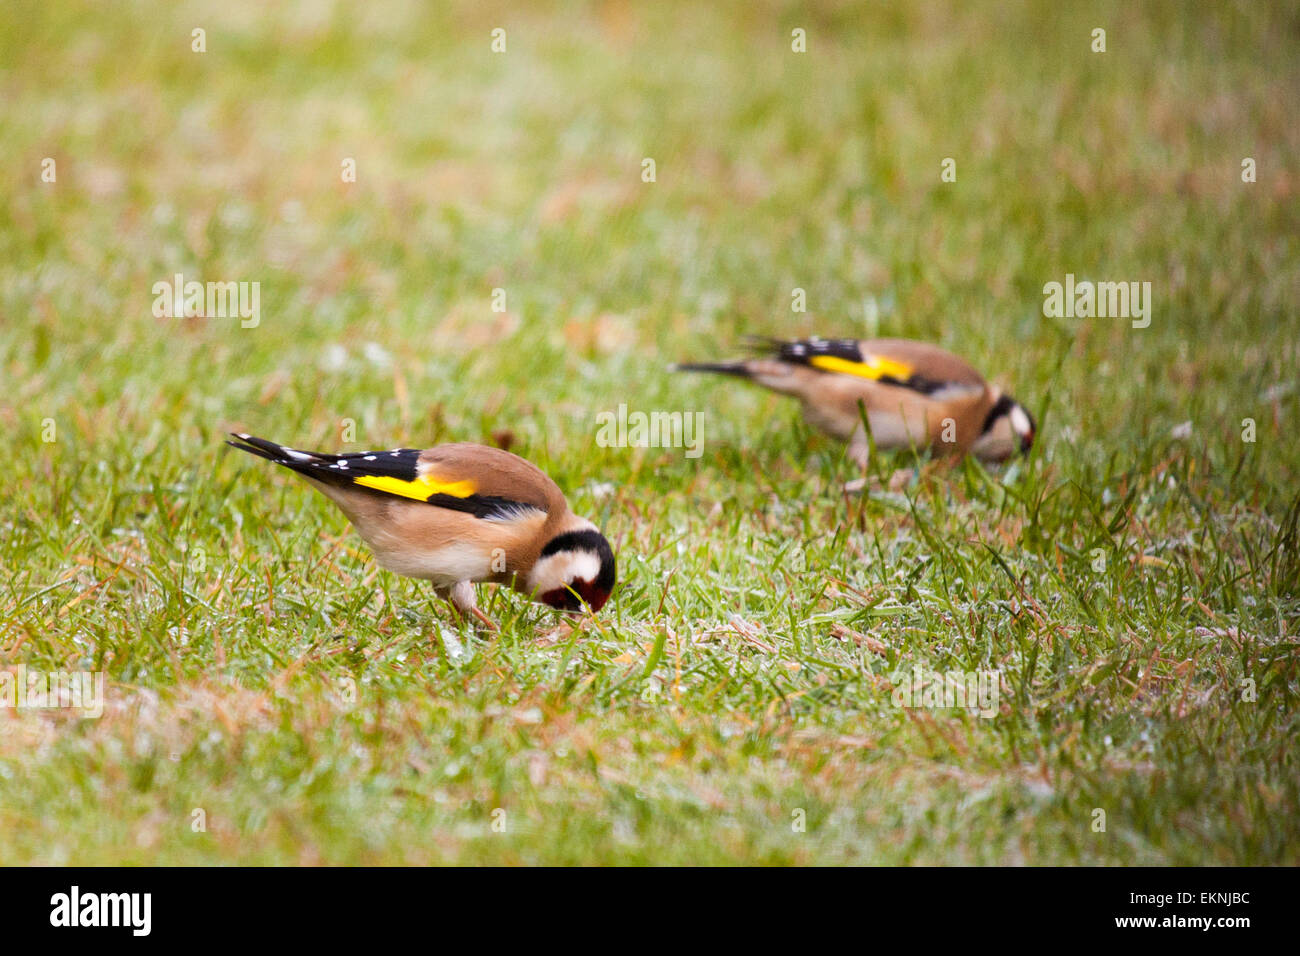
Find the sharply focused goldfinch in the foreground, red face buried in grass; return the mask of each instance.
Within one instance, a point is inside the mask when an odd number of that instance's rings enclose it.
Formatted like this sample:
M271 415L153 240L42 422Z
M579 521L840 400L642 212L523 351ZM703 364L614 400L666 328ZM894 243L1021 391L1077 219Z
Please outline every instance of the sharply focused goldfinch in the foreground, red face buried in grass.
M382 567L432 581L485 624L474 581L567 611L598 611L614 591L610 542L537 466L508 451L456 444L328 455L231 437L228 445L298 472L338 505Z

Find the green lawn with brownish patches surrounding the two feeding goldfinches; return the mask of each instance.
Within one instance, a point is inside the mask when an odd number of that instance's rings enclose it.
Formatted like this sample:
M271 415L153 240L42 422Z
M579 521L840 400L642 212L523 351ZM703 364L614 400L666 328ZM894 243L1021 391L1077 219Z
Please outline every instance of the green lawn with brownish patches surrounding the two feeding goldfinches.
M108 687L0 711L0 861L1300 862L1292 8L6 13L0 661ZM153 317L177 272L260 324ZM1045 317L1066 273L1150 326ZM846 499L794 407L663 371L750 333L939 342L1041 440ZM703 455L598 446L619 403ZM454 656L234 428L508 437L619 589L481 589Z

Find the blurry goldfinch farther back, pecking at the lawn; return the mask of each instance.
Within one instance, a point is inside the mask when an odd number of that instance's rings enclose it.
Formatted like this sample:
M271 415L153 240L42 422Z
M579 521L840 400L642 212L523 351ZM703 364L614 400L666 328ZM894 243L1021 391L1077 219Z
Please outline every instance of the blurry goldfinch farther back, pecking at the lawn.
M1001 462L1034 444L1034 416L952 352L902 338L763 339L764 358L673 365L681 372L733 375L803 405L815 428L849 442L866 467L876 447L930 447Z

